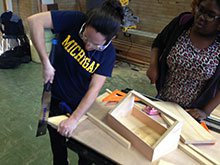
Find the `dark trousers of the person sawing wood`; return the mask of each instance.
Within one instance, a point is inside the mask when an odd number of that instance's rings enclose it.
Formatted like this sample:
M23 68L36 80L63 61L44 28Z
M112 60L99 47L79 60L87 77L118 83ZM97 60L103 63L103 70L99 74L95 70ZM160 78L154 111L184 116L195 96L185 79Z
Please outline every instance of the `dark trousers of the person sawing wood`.
M50 116L62 115L63 112L59 108L59 101L52 99L50 106ZM48 131L50 135L51 149L53 153L53 164L54 165L68 165L68 155L67 155L67 146L66 138L61 136L56 129L48 125ZM91 165L92 162L85 158L83 155L78 154L79 156L79 165Z

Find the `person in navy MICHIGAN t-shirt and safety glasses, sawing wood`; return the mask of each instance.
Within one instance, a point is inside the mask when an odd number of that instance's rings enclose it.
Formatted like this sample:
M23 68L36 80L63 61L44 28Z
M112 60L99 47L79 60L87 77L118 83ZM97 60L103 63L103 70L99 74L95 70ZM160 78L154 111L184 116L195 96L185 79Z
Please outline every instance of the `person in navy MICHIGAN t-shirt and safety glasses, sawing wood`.
M111 41L120 30L122 19L123 9L117 0L107 0L87 14L51 11L28 18L31 39L42 62L44 81L53 82L50 116L66 113L62 111L65 106L72 110L58 130L48 126L54 164L68 164L66 137L71 136L79 119L98 96L106 77L111 76L116 57ZM45 49L45 28L58 34L53 66ZM79 155L79 164L90 163Z

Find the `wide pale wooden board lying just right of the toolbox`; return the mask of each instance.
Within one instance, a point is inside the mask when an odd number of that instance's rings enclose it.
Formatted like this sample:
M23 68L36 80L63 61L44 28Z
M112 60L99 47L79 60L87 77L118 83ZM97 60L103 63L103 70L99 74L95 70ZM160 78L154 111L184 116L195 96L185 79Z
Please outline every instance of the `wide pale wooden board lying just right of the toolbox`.
M170 112L184 120L182 132L181 132L181 140L185 144L213 144L215 143L215 138L206 131L196 120L194 120L184 109L182 109L179 105L171 103L171 102L158 102L166 109L169 109ZM172 124L172 120L166 115L162 114L162 117L168 122L168 124Z

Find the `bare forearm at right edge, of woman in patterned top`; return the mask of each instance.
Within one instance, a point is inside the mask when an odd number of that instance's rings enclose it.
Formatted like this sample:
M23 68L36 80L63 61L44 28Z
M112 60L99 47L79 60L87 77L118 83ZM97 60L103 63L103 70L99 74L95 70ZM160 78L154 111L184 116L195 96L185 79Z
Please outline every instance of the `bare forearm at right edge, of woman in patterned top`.
M210 115L212 111L220 104L220 91L217 92L216 96L211 99L208 104L203 108L207 115Z

